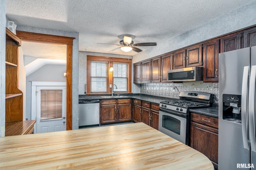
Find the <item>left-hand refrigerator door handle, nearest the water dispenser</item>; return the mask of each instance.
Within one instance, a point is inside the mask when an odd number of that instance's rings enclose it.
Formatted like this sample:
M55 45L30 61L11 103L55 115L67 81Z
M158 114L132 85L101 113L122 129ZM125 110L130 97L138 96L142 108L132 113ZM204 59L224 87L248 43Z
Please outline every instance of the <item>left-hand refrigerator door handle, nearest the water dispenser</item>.
M243 83L242 83L242 103L241 103L241 114L242 114L242 137L244 149L249 150L248 145L248 78L249 77L249 66L244 67Z

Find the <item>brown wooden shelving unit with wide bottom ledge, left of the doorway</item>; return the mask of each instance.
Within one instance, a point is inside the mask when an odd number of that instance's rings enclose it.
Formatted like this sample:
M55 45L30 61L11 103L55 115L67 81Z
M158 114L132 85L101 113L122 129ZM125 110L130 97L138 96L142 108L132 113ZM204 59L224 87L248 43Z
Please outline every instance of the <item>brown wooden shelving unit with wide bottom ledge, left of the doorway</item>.
M27 134L34 121L23 121L23 93L19 89L19 52L21 39L6 28L6 94L5 123L6 135Z

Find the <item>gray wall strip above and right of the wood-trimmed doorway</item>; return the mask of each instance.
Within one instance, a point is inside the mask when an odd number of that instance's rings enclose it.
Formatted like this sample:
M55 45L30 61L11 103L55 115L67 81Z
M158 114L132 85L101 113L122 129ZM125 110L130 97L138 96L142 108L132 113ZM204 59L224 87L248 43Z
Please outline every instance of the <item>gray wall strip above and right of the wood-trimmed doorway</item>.
M17 25L16 30L34 33L43 33L49 35L60 35L74 37L73 40L73 59L72 59L72 129L78 129L78 36L77 32L61 31L56 29L45 29L37 27L28 27Z

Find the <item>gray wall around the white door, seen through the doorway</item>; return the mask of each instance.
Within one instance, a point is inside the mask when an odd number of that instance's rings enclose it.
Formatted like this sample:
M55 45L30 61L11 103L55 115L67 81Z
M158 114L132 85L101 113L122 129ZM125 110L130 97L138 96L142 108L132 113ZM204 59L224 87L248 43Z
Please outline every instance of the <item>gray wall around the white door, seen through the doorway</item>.
M63 73L66 65L47 64L26 77L26 118L31 120L31 82L30 81L66 81Z

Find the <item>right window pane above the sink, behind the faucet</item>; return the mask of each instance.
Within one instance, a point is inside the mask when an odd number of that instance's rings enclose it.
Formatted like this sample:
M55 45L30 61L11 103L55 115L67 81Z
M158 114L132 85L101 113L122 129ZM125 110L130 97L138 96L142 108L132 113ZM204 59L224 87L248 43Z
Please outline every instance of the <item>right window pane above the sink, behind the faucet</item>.
M128 64L127 63L113 63L113 84L116 84L117 88L113 90L115 92L128 92L127 80L128 80Z

